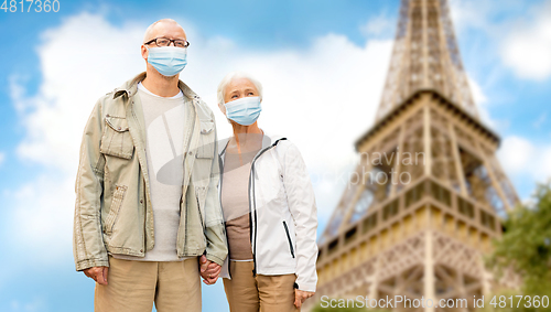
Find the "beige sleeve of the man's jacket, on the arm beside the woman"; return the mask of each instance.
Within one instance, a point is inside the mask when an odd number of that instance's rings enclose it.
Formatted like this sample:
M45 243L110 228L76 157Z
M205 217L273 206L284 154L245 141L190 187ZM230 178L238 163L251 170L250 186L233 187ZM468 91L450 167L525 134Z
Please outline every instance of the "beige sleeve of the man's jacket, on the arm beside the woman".
M214 116L212 116L214 120ZM216 133L216 122L214 126ZM223 265L228 255L228 246L226 240L226 227L224 225L224 216L222 213L220 200L218 196L218 182L220 179L220 168L218 161L218 137L214 139L214 155L210 168L210 181L205 201L205 237L206 258L218 265Z

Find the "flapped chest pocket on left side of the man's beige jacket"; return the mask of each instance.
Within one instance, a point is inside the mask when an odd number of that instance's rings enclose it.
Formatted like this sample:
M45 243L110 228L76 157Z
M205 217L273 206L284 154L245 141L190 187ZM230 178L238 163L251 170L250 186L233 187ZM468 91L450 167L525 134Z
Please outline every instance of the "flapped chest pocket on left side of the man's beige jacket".
M104 154L122 159L131 159L133 153L132 137L128 128L126 118L107 115L105 117L106 127L101 136L99 151Z

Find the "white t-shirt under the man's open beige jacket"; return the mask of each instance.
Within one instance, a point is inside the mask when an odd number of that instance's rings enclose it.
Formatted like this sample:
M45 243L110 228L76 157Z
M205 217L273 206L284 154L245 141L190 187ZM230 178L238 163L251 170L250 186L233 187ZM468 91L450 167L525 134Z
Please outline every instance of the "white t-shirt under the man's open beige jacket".
M184 130L186 98L182 90L173 97L161 97L138 84L145 122L145 157L155 246L145 257L112 255L118 259L141 261L179 261L176 237L180 226L180 200L184 180ZM188 258L188 257L187 257Z

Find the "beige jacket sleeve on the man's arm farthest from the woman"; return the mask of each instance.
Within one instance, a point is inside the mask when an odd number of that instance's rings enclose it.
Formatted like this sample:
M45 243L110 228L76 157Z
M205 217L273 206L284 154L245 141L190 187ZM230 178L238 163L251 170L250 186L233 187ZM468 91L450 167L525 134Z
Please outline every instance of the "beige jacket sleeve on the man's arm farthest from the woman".
M101 101L99 100L84 130L75 183L73 254L77 271L109 266L101 235L100 215L105 165L105 157L99 152L101 121Z

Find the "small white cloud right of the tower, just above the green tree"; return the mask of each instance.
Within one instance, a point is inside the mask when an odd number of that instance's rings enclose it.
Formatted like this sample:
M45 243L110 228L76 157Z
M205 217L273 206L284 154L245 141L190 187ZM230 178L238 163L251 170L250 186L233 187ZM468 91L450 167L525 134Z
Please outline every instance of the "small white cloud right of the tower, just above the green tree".
M538 182L551 177L551 144L537 144L517 136L506 137L497 155L511 177L528 176Z

